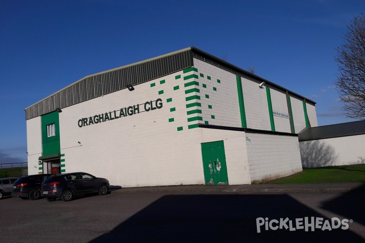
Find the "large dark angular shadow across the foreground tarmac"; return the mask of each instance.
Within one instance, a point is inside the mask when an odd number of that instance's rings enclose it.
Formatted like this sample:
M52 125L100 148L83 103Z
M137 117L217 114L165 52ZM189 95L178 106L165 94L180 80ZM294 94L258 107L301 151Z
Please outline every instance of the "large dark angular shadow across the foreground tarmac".
M362 208L362 207L360 207ZM290 231L282 227L257 232L256 219L280 221L286 217L296 228L296 218L324 218L286 194L270 195L166 195L135 213L109 233L90 243L105 242L362 242L363 239L341 227L332 230L309 227ZM340 219L342 220L342 219ZM328 220L331 227L331 219ZM337 224L337 223L336 223ZM279 224L273 223L273 226ZM351 224L349 223L349 227Z

